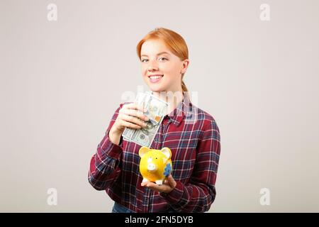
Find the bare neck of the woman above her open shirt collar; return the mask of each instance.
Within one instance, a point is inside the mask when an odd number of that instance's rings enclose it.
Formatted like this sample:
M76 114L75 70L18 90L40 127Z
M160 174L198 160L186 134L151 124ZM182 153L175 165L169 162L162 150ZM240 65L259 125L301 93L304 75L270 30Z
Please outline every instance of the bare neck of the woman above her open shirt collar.
M170 114L174 109L177 108L178 104L183 101L184 95L183 91L179 90L177 92L152 92L158 99L166 101L169 106L167 108L167 114Z

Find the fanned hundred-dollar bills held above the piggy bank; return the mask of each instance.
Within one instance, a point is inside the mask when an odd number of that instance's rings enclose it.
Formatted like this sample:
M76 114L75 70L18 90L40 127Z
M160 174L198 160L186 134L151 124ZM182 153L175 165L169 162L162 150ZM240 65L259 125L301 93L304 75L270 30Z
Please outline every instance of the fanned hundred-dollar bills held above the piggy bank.
M149 119L147 126L140 129L125 128L122 136L124 140L137 143L138 145L150 148L152 141L167 114L168 104L166 101L158 99L150 92L138 93L135 104L143 107L147 111L144 113ZM142 111L140 111L142 113Z

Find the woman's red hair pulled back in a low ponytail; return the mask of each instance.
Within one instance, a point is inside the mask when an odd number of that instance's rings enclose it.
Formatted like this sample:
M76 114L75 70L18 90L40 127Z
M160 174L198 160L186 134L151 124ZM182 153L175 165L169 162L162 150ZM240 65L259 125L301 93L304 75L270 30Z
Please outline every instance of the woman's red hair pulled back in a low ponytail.
M169 48L174 55L179 57L181 61L189 59L189 49L187 48L184 38L182 38L178 33L175 33L167 28L155 28L155 30L150 31L150 33L147 33L147 35L140 40L140 43L138 43L138 46L136 47L139 58L142 45L147 40L162 40L165 45L167 45L167 48ZM188 89L183 81L183 77L184 73L181 74L181 89L183 89L183 92L188 92Z

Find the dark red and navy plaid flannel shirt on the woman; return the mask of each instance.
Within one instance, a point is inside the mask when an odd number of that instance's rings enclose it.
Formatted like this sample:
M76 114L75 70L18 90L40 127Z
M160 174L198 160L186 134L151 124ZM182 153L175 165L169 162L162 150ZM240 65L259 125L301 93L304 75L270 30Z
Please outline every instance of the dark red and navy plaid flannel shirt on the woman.
M108 138L122 106L113 115L91 158L90 184L97 190L106 190L111 199L138 213L208 211L216 197L220 156L220 133L213 116L184 96L177 108L164 117L150 148L172 150L172 177L177 185L165 194L140 185L140 145L123 138L116 145Z

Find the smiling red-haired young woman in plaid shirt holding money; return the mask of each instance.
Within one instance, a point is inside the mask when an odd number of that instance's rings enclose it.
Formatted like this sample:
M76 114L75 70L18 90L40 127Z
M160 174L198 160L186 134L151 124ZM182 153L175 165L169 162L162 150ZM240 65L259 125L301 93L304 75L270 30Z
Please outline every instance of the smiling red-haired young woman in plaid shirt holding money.
M164 184L142 182L140 145L123 140L125 127L145 127L145 111L133 103L116 110L91 158L89 182L115 201L113 212L205 212L216 196L220 133L213 116L191 104L183 77L189 52L181 35L156 28L137 46L142 78L152 94L169 103L152 149L172 150L172 175ZM167 98L168 97L168 98ZM140 110L140 111L138 111Z

